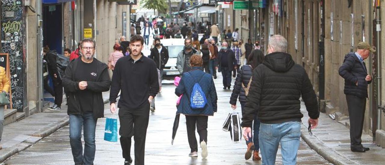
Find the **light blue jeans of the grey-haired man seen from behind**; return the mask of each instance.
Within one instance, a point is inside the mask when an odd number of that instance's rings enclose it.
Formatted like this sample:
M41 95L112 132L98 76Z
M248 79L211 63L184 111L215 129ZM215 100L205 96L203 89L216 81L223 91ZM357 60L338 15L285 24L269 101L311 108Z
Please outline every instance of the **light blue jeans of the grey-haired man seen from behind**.
M281 143L282 163L295 165L300 146L301 125L299 121L280 124L261 123L259 128L262 165L274 165L278 145Z

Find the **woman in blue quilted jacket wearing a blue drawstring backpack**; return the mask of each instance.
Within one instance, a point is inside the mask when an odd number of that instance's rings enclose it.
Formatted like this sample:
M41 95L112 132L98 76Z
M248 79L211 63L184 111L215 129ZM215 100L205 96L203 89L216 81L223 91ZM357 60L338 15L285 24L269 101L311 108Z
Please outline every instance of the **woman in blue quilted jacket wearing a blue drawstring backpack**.
M199 55L190 59L191 71L182 74L179 86L175 89L177 96L182 96L177 106L177 114L186 116L187 137L191 149L189 157L198 157L198 143L195 129L199 134L201 156L206 158L207 121L217 111L217 94L213 77L202 70L203 60Z

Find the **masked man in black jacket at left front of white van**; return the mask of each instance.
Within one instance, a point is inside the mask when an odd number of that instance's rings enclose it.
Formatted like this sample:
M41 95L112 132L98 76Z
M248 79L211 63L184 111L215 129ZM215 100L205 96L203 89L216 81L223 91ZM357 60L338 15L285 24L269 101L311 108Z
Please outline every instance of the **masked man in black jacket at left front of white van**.
M154 60L159 72L159 92L162 91L163 69L169 59L168 50L161 44L160 39L155 39L155 47L151 49L149 58ZM150 110L155 111L155 98L152 99Z

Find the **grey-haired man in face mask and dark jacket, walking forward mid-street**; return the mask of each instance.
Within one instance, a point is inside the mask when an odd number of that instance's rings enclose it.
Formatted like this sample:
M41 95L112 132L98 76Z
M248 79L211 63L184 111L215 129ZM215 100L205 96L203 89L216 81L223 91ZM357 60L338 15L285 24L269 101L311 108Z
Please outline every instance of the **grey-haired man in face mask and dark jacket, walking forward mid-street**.
M231 72L236 69L234 52L228 49L227 42L222 43L221 51L218 52L218 71L222 72L223 89L231 87Z

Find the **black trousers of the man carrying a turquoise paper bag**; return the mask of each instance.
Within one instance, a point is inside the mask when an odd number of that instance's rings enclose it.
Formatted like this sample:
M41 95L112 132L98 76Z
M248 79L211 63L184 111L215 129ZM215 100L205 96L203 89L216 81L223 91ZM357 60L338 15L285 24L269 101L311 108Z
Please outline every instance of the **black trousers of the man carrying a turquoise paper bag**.
M146 143L147 126L150 104L147 102L138 109L119 109L120 141L122 155L126 160L131 159L131 137L135 140L135 165L144 165L144 145Z

